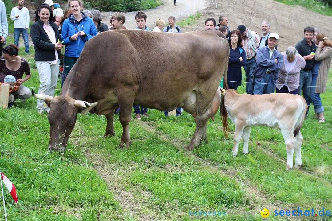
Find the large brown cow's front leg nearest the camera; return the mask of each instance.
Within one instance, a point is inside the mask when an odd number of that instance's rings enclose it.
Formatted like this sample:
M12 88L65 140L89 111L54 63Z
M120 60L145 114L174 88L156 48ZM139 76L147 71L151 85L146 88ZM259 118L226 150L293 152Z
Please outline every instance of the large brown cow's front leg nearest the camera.
M120 112L119 112L119 121L122 125L122 137L121 137L121 143L120 147L123 148L129 148L129 144L132 144L130 141L130 135L129 135L129 122L131 118L131 110L132 110L132 104L131 105L121 105L120 106Z

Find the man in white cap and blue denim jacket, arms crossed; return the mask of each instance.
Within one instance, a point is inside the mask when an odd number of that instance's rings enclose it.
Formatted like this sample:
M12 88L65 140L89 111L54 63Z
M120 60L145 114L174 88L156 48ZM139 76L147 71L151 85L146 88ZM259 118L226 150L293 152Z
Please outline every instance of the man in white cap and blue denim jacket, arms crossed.
M282 54L276 49L278 41L279 34L272 32L268 45L257 49L254 94L274 93L278 73L284 63Z

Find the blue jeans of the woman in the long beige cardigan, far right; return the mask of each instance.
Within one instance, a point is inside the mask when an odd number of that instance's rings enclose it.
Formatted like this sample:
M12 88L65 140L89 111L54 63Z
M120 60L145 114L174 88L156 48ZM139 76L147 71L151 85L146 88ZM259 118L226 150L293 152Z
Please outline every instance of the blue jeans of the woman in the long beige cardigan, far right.
M312 82L311 82L311 87L310 87L310 101L309 102L312 103L312 105L315 109L315 113L320 113L320 112L324 111L322 100L320 99L319 94L315 93L319 65L320 65L320 61L318 61L318 62L316 61L312 68ZM310 104L308 104L308 110L307 110L306 114L308 114L308 112L309 112L309 107L310 107Z

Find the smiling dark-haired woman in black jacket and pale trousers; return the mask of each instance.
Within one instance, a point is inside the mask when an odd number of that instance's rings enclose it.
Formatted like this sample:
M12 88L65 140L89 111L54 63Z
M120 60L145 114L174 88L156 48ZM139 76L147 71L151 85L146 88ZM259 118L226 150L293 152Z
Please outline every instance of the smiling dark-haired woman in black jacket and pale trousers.
M59 58L62 44L59 43L57 25L52 22L51 8L46 4L38 6L35 23L32 24L30 36L35 45L35 61L39 72L39 92L54 96L54 89L58 81ZM37 111L49 112L43 100L37 101Z

